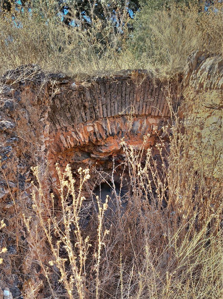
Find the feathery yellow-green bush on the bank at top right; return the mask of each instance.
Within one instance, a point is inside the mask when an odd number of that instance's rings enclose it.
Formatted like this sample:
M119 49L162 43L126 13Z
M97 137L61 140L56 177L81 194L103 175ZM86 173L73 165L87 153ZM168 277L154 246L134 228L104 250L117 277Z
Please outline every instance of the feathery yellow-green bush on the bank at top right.
M193 51L221 53L222 3L214 1L210 7L206 12L203 4L190 1L189 6L171 5L152 15L148 6L143 7L136 14L137 34L128 59L132 58L136 67L153 67L168 76L181 72Z

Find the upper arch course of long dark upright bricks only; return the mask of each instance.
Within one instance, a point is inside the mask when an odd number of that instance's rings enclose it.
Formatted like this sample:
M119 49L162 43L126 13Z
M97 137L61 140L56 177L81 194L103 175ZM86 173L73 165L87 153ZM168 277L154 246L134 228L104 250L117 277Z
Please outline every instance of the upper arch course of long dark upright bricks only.
M118 77L113 81L104 79L81 88L72 83L74 90L69 93L66 85L61 87L61 93L52 99L50 106L51 131L117 115L170 116L166 102L167 82L153 82L148 76L142 82L140 77L135 82L127 78L119 80ZM175 100L173 94L173 104Z

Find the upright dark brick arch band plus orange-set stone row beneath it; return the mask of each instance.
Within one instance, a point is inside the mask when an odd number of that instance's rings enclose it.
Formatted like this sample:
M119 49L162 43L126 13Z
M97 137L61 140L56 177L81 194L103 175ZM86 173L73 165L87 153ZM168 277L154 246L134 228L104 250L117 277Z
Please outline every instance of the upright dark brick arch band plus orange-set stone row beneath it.
M101 143L110 136L123 137L127 132L142 138L143 134L157 130L159 120L170 116L167 83L149 77L137 81L127 77L100 81L89 83L88 87L76 85L76 90L62 86L52 99L49 138L56 151ZM145 121L144 116L148 116Z

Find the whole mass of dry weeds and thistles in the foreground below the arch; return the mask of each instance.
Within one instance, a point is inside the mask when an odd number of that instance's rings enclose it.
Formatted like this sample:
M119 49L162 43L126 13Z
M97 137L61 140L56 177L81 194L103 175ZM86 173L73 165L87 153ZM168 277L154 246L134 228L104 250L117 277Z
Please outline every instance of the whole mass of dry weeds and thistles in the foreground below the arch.
M105 215L107 200L101 208L98 199L98 224L93 214L87 229L80 223L81 190L89 179L88 170L79 170L77 192L69 166L65 173L57 168L59 210L54 208L53 196L50 208L49 194L43 191L41 175L35 170L33 199L36 231L41 234L36 234L33 244L41 259L38 238L47 239L51 270L42 266L53 298L59 293L54 291L51 271L56 271L66 298L222 297L221 179L213 182L202 165L197 167L190 155L193 134L182 133L183 122L173 111L172 123L171 129L163 128L169 134L169 152L162 138L157 144L160 163L150 149L144 150L149 136L140 149L127 147L123 140L130 177L127 208L123 210L121 195L114 193L116 210ZM110 181L115 189L113 176ZM28 220L26 225L31 227Z

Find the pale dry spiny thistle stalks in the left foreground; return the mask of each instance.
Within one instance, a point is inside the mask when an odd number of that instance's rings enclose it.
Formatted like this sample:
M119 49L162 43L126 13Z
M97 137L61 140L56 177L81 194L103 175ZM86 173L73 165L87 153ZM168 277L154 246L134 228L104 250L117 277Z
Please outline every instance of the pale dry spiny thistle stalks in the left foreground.
M43 229L44 235L47 238L48 244L50 246L53 260L49 262L51 266L56 266L60 271L60 280L65 286L68 298L72 299L74 295L75 288L77 289L78 296L80 299L87 298L87 287L86 287L86 259L91 244L89 243L89 237L85 239L82 237L81 227L80 227L80 211L82 206L82 201L84 197L81 196L81 191L83 189L84 183L90 178L89 169L82 170L79 168L78 173L80 174L80 186L79 192L75 192L75 179L73 179L72 171L69 165L67 165L65 172L61 173L60 168L56 165L56 170L59 178L58 191L60 193L61 199L61 216L56 216L56 211L54 208L54 195L51 194L53 207L50 209L48 207L48 197L44 194L43 187L41 184L40 170L38 167L33 169L34 175L37 179L37 184L39 187L36 187L36 192L32 193L34 200L34 208L39 219L40 228ZM72 197L72 204L68 205L69 197ZM96 264L94 269L96 271L96 298L99 298L99 263L101 258L102 245L104 244L104 237L109 233L108 230L105 230L103 233L103 216L104 212L107 209L107 200L103 205L103 208L100 206L98 200L98 251L95 253ZM47 212L47 213L46 213ZM48 215L48 217L46 216ZM48 219L47 219L48 218ZM28 228L29 233L31 217L26 219L24 216L25 224ZM36 237L38 236L38 231L36 227ZM32 236L31 236L32 237ZM54 245L54 238L57 238L56 245ZM73 239L75 237L75 243ZM38 255L41 255L41 249L38 246L38 240L32 237L33 243L37 248ZM68 259L62 258L60 256L60 248L65 249ZM40 256L39 256L40 257ZM67 262L69 266L67 266ZM48 278L48 269L44 267L41 262L41 266L45 271L45 276L48 279L48 283L51 286L50 280ZM51 288L51 292L54 295L54 292ZM54 295L55 296L55 295Z

